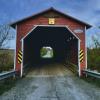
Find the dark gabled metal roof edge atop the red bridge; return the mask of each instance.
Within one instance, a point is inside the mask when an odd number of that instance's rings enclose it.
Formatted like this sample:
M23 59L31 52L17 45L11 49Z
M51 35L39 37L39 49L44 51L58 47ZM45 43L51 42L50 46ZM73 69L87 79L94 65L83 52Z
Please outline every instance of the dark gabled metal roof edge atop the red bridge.
M21 20L15 21L15 22L11 23L10 26L15 27L15 25L18 24L18 23L20 23L20 22L23 22L23 21L25 21L25 20L27 20L27 19L29 19L29 18L31 18L31 17L39 16L39 15L41 15L41 14L43 14L43 13L48 12L48 11L55 11L55 12L57 12L57 13L59 13L59 14L64 15L65 17L69 17L69 18L71 18L71 19L73 19L73 20L75 20L75 21L77 21L77 22L79 22L79 23L81 23L81 24L84 24L84 25L86 26L87 29L90 28L90 27L92 27L92 25L90 25L90 24L88 24L88 23L86 23L86 22L83 22L83 21L81 21L81 20L79 20L79 19L76 19L76 18L74 18L74 17L72 17L72 16L70 16L70 15L67 15L67 14L65 14L65 13L63 13L63 12L61 12L61 11L58 11L57 9L55 9L55 8L53 8L53 7L49 8L49 9L46 9L46 10L43 10L43 11L41 11L41 12L38 12L38 13L36 13L36 14L34 14L34 15L28 16L28 17L26 17L26 18L23 18L23 19L21 19Z

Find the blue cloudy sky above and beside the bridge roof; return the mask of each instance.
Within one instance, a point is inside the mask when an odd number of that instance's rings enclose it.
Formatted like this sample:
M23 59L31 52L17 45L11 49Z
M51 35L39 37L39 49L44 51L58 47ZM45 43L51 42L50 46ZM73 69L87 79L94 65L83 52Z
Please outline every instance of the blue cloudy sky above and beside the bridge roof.
M15 22L50 7L91 24L92 28L86 31L86 38L87 46L93 46L91 37L100 34L100 0L0 0L0 25ZM15 30L12 32L15 34ZM15 48L15 41L15 38L9 41L7 47Z

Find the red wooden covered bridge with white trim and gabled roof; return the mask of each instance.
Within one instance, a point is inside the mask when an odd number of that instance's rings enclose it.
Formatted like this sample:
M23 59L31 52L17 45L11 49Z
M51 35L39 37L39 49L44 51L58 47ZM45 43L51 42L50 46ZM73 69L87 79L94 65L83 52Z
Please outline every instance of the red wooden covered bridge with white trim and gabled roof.
M23 75L32 64L69 61L77 65L81 76L87 68L85 32L91 26L54 8L46 9L11 24L16 28L15 70ZM42 59L40 49L52 47L54 57Z

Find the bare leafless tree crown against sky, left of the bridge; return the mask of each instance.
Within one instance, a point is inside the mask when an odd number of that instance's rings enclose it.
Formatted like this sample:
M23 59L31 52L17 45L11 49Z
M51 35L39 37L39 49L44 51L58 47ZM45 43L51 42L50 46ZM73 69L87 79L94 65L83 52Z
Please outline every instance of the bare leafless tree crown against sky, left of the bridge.
M2 25L0 26L0 48L4 47L9 40L14 38L14 34L11 33L10 26Z

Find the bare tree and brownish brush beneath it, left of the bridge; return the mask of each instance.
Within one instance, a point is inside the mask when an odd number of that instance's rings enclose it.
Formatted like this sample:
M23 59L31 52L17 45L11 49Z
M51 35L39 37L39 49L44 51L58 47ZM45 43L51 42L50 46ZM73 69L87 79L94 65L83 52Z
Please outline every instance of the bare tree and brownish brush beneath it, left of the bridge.
M13 39L15 34L11 32L10 26L0 26L0 72L13 69L14 51L4 49L9 41Z

